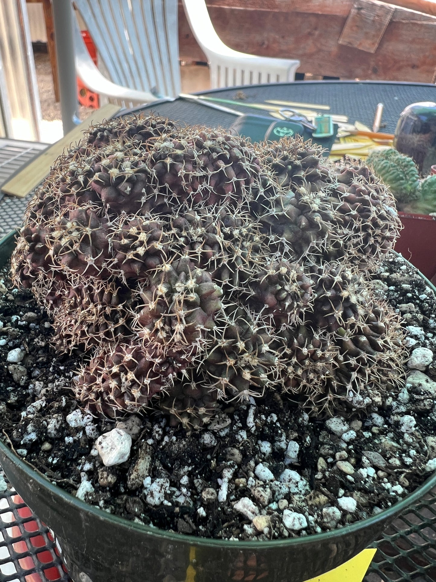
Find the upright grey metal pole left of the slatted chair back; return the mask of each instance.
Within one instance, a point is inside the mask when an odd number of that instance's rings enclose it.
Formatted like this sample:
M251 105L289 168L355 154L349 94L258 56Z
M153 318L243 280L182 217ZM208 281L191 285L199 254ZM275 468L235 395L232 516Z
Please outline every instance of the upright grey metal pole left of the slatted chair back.
M80 119L78 119L76 67L74 66L74 17L71 0L53 0L53 25L64 135L76 127L77 123L80 123Z

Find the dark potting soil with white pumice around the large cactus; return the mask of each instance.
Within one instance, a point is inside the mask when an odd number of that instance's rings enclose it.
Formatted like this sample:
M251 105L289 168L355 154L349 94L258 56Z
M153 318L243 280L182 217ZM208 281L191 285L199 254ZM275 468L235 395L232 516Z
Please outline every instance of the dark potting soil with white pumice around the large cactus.
M402 313L410 350L436 353L436 297L417 272L392 254L373 285ZM186 432L153 414L116 424L83 414L71 389L83 354L55 354L52 333L3 269L2 438L59 487L128 520L212 538L308 535L388 508L436 469L435 360L366 416L309 419L269 393L224 404L208 427ZM95 441L116 427L131 435L130 455L106 467Z

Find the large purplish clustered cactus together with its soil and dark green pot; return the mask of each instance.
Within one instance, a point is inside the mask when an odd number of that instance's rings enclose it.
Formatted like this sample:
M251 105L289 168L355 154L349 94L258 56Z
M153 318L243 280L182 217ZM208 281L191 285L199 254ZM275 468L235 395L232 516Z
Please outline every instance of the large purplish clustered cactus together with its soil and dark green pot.
M116 119L3 240L1 464L75 582L302 582L434 486L433 353L408 392L405 325L436 298L389 254L389 190L328 164Z

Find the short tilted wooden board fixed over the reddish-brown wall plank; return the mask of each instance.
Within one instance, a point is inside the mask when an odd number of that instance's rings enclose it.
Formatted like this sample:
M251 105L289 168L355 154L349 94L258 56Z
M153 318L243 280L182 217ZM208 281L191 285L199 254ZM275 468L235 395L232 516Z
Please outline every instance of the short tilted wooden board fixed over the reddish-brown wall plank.
M339 44L376 52L385 30L394 14L394 6L373 0L355 0L350 10Z

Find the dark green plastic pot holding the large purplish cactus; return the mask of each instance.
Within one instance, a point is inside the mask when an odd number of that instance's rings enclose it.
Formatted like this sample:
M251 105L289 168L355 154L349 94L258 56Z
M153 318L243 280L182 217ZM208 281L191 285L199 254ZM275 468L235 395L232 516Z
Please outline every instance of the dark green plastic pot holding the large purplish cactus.
M14 245L14 233L0 240L0 267ZM54 485L2 442L0 464L24 502L56 534L74 582L303 582L353 558L436 487L435 473L391 508L338 530L238 542L170 533L106 513Z

